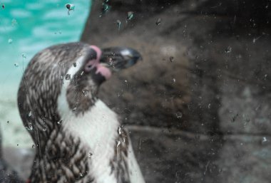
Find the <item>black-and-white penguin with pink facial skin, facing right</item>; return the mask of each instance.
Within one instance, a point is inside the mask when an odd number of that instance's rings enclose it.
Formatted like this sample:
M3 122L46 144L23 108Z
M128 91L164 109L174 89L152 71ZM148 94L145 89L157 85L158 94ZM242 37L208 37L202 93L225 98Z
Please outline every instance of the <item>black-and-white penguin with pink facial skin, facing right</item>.
M28 183L144 183L120 117L98 98L100 85L141 56L132 48L64 43L31 59L18 91L34 140Z

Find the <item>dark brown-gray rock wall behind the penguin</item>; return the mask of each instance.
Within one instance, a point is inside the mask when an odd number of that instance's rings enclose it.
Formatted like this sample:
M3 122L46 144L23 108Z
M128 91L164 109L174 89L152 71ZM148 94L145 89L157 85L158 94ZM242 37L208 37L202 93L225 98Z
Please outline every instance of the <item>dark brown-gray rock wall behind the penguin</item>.
M100 97L146 182L270 182L269 21L269 1L93 1L81 40L143 54Z

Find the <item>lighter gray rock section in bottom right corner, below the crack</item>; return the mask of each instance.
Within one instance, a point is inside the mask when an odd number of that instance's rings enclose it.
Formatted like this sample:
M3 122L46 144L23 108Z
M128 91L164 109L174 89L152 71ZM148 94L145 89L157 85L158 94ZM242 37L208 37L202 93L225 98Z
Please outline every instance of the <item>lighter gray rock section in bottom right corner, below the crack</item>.
M220 149L218 165L221 183L270 182L270 136L229 135Z

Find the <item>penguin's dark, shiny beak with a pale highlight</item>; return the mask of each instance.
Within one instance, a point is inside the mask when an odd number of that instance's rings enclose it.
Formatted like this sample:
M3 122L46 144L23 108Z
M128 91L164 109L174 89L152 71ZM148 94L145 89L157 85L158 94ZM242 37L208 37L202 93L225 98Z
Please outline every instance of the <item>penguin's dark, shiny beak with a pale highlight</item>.
M113 71L129 68L142 60L142 56L133 48L112 47L102 49L100 63Z

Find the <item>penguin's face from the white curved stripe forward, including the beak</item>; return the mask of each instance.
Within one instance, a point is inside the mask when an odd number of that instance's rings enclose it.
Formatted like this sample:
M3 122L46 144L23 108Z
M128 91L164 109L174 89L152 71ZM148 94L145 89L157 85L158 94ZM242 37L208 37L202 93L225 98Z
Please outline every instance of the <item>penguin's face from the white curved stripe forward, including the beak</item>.
M62 92L66 93L70 109L74 113L88 110L96 102L99 86L113 73L133 66L140 58L132 48L84 48L83 54L63 75Z

